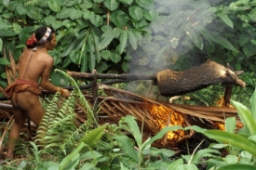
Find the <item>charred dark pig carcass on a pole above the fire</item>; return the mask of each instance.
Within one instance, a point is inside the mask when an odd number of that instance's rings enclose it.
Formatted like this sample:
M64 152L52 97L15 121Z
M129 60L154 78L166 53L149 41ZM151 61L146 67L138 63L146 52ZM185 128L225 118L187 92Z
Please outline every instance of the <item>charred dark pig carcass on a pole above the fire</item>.
M194 92L209 85L230 84L246 86L231 67L224 67L214 61L208 60L197 67L192 67L183 72L174 72L169 69L156 72L156 82L160 94L165 97L173 97Z

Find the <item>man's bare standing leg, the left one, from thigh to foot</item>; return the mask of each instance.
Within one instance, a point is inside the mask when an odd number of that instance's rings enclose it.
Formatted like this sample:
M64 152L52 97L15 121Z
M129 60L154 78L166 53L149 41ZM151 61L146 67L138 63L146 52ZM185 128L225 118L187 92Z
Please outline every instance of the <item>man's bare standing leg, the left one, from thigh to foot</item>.
M12 125L7 144L7 159L13 158L13 151L18 138L20 137L20 130L25 122L25 114L20 109L14 108L14 119L15 122Z

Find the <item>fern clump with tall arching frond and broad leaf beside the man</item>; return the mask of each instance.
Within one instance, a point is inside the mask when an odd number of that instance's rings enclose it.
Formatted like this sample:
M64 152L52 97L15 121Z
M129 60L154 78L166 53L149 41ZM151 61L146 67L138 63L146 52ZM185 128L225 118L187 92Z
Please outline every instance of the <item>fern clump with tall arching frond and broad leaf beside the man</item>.
M61 71L57 70L56 72ZM74 82L74 79L65 72L61 73L69 79L71 85L74 85L74 90L71 96L63 101L60 101L59 93L56 93L49 101L45 109L45 115L36 132L35 142L38 147L44 148L44 152L53 154L52 151L56 152L56 149L59 149L65 155L74 150L75 144L78 145L81 142L86 142L89 147L96 145L104 134L103 130L107 125L99 126L91 131L88 128L89 132L81 131L84 125L78 128L75 126L74 105L77 102L77 98L79 98L79 104L88 111L88 121L85 123L88 127L92 127L92 124L94 124L94 117L88 101ZM77 132L79 132L80 139L77 139Z

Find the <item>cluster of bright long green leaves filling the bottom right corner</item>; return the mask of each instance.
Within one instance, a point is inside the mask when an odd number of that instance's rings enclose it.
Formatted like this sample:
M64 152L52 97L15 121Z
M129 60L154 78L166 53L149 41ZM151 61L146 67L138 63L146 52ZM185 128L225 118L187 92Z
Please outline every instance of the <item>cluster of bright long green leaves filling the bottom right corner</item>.
M244 127L236 134L236 119L229 118L225 122L225 131L221 130L204 130L201 131L207 137L216 139L221 144L213 144L212 149L225 149L229 154L225 159L209 159L209 163L213 163L212 167L219 169L255 169L253 155L256 154L255 128L255 94L250 98L251 111L243 104L232 100L232 104L236 107L239 118ZM235 165L236 164L236 165Z

